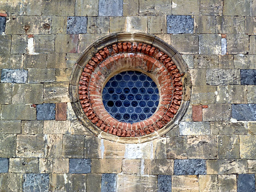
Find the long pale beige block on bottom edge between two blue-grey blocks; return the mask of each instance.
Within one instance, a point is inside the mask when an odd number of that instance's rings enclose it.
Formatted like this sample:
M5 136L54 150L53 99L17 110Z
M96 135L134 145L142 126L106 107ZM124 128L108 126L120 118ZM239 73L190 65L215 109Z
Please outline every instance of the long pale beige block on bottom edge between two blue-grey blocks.
M143 182L140 182L141 180ZM117 192L157 191L157 176L119 174L117 183ZM114 191L111 190L111 192Z

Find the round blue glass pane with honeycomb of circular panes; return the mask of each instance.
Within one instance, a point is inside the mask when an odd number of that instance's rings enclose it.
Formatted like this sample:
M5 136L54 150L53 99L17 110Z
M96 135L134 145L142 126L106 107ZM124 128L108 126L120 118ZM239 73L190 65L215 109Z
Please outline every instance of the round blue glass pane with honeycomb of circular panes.
M103 105L120 122L135 123L151 117L159 104L155 82L139 71L113 76L102 90Z

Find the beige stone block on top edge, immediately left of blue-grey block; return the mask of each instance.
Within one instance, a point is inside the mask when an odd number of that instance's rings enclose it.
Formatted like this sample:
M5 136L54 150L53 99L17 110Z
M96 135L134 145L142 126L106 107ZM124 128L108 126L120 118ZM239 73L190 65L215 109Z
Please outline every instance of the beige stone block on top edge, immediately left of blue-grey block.
M77 0L75 5L75 16L98 16L99 1Z

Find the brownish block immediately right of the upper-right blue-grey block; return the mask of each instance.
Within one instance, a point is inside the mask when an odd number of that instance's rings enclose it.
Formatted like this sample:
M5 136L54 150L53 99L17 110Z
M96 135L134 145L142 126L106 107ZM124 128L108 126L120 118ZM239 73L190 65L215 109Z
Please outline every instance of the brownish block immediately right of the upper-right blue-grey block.
M194 33L215 33L216 19L215 16L195 15Z

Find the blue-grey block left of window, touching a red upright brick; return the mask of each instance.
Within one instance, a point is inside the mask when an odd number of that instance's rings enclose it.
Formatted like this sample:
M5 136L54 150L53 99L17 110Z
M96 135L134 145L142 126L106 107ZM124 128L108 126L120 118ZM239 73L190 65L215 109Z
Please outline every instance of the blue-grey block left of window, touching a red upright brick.
M36 106L37 120L54 120L55 119L55 103L43 103Z

